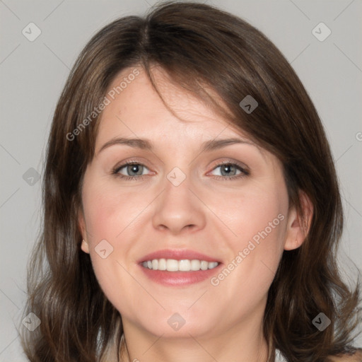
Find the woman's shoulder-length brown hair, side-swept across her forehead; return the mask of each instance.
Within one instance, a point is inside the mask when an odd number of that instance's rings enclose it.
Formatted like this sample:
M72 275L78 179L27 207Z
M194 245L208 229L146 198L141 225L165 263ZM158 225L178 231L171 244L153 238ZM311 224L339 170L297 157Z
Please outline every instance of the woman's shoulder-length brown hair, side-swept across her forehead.
M154 64L281 160L290 204L301 216L300 192L313 204L303 245L284 251L269 288L267 341L287 361L328 361L327 356L353 350L359 278L350 291L337 267L341 197L313 103L287 60L259 30L211 6L168 2L146 18L120 18L94 35L57 104L47 144L42 232L29 265L25 314L33 312L41 320L34 332L23 332L30 361L100 361L119 346L121 316L80 247L81 186L94 154L100 118L95 107L119 71L142 67L153 81ZM246 95L258 103L250 114L239 105ZM86 127L69 141L67 135L84 119ZM331 320L322 332L312 323L319 313Z

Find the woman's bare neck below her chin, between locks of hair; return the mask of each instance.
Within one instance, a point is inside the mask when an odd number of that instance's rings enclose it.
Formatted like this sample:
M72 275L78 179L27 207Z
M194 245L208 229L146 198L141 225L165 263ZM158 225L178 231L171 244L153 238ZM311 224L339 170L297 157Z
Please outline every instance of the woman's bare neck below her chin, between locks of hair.
M255 327L257 324L252 322L248 328L235 325L214 337L187 333L178 338L157 337L126 322L128 328L124 328L122 336L120 362L267 362L270 346L264 339L262 325Z

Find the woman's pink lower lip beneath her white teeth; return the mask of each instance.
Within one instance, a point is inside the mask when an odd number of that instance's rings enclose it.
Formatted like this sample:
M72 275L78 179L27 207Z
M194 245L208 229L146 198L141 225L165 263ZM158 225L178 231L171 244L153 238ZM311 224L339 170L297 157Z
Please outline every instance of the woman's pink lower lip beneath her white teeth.
M216 274L221 267L221 263L214 269L198 270L198 271L163 271L152 270L143 267L139 264L139 267L144 271L144 274L149 279L155 281L163 286L188 286L190 284L197 284L206 279L210 279L211 276Z

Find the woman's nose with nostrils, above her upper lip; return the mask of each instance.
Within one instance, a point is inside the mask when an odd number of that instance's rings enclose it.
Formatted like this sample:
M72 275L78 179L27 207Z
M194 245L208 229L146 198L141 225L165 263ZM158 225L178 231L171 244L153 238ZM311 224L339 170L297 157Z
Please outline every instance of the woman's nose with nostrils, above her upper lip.
M180 185L165 180L165 188L155 200L156 207L152 218L154 228L163 232L168 230L176 235L184 229L196 231L205 227L206 206L196 187L191 184L189 177Z

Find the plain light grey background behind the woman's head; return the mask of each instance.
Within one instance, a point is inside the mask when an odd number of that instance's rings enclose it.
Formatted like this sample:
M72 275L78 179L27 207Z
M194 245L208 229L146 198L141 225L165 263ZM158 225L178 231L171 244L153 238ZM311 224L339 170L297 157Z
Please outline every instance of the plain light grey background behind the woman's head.
M36 174L29 169L42 174L52 113L69 70L100 28L120 16L143 14L155 2L0 0L0 361L25 361L14 322L21 321L26 263L41 218L40 181L30 178ZM206 3L262 30L310 93L325 124L341 182L346 228L340 265L356 276L348 257L362 269L362 1ZM22 34L30 22L42 32L33 42ZM322 42L312 33L320 22L332 31ZM356 345L362 346L361 337Z

